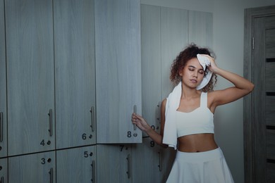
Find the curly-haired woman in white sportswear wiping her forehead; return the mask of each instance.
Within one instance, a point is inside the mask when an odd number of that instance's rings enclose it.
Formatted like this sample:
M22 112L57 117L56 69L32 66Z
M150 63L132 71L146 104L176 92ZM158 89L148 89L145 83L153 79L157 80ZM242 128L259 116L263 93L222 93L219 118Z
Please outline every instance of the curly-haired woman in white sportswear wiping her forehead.
M235 86L213 91L216 75ZM177 86L161 103L158 134L138 114L133 124L157 144L177 149L167 182L233 182L224 155L214 140L213 115L217 106L236 101L252 92L254 84L216 66L208 49L191 44L171 66Z

